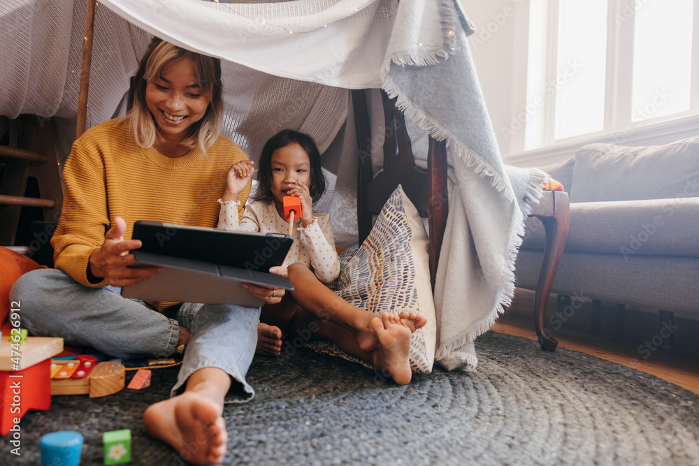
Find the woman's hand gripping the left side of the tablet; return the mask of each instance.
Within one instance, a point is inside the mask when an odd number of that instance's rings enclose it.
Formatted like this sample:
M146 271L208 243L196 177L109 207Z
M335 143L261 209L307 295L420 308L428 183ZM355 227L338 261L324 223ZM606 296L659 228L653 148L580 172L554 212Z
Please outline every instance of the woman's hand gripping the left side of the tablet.
M164 267L138 265L134 255L128 253L141 247L141 242L124 241L127 224L122 217L115 217L114 220L115 226L105 233L101 247L89 256L87 277L91 282L101 282L101 279L106 278L112 286L132 285L165 270Z

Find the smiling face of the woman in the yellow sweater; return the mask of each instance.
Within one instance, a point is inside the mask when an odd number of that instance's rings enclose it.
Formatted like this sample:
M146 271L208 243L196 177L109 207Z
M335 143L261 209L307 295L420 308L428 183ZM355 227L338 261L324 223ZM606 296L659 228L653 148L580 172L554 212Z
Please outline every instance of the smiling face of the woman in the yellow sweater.
M158 132L166 141L180 143L187 129L199 122L211 101L199 87L196 69L186 58L175 61L161 76L147 82L145 101Z

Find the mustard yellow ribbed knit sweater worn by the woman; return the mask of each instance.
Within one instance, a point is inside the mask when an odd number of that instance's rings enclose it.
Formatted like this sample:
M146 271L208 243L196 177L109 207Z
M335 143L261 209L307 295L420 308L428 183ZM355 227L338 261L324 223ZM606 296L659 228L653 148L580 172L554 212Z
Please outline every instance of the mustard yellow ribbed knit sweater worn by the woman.
M124 240L137 220L215 228L226 171L246 159L224 136L206 155L191 150L169 159L152 147L138 147L123 119L92 127L73 144L63 171L66 195L51 240L55 267L85 286L106 286L106 280L88 281L88 260L117 216L127 223ZM250 183L238 196L240 216L249 194Z

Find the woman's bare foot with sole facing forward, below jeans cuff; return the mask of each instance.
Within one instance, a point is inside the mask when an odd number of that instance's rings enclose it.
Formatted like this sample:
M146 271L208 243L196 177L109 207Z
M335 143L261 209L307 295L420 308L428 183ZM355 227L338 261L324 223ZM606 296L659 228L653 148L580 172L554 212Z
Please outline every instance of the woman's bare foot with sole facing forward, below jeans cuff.
M186 391L150 405L143 424L149 435L170 444L194 465L217 465L226 454L222 407L201 393Z

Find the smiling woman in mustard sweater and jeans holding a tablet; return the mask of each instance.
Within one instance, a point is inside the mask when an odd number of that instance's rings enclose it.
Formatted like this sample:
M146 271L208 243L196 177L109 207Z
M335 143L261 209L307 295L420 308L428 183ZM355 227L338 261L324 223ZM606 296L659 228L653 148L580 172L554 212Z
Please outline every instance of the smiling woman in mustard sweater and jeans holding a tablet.
M149 407L143 420L150 435L194 464L221 462L224 402L254 393L245 374L259 308L143 303L122 298L118 287L161 272L129 268L135 261L127 253L140 247L131 240L134 221L216 226L226 172L247 159L219 134L222 112L219 60L154 39L129 114L94 126L73 145L51 242L56 268L29 272L11 293L32 335L63 337L117 358L169 356L187 344L173 398ZM249 182L241 205L248 194ZM272 304L284 294L249 291Z

